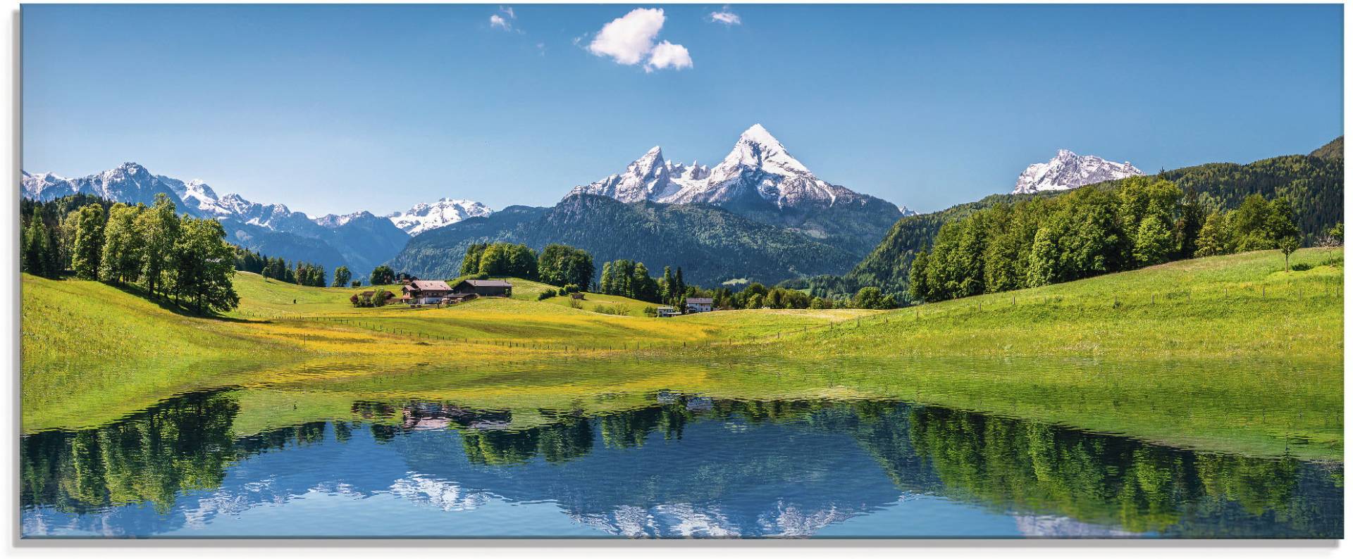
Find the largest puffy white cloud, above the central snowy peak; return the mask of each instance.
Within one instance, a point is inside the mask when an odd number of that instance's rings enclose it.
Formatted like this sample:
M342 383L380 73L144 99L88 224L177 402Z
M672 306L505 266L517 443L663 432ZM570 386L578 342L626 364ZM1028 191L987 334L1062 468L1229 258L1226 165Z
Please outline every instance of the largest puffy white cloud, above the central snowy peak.
M587 45L587 51L598 57L610 57L626 66L647 59L644 72L694 66L686 47L667 41L653 45L666 22L667 16L662 8L636 8L602 26Z

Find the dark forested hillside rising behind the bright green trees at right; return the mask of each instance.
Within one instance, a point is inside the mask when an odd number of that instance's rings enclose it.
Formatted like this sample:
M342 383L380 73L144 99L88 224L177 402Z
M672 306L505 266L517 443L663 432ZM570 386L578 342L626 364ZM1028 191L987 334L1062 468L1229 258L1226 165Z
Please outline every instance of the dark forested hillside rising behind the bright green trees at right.
M1303 244L1310 246L1316 235L1344 221L1342 144L1344 138L1339 136L1311 155L1283 155L1247 165L1207 163L1168 170L1147 178L1153 182L1168 180L1184 192L1196 192L1204 213L1235 209L1250 194L1262 194L1266 198L1285 197L1295 211ZM1122 180L1107 181L1082 189L1112 192L1122 184ZM850 285L877 285L889 293L904 292L912 259L934 244L935 236L946 223L1003 203L1013 204L1050 196L1066 196L1066 193L994 194L944 211L902 217L884 242L843 280Z

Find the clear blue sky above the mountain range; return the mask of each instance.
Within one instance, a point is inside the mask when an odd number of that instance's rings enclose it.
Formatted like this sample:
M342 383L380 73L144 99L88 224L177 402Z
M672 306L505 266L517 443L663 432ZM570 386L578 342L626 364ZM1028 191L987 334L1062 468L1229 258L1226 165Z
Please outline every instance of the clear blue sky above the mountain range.
M653 144L714 163L762 123L819 177L935 211L1011 190L1058 149L1146 171L1314 150L1342 134L1342 19L1337 4L24 5L23 167L135 161L311 215L549 205Z

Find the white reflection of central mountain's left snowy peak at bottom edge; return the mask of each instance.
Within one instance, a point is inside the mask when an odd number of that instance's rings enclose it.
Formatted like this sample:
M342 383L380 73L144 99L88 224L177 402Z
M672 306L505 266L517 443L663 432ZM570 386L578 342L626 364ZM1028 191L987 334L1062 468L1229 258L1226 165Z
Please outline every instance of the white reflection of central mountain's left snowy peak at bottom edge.
M609 513L570 514L575 521L625 537L736 537L737 527L718 509L691 504L643 508L620 505Z

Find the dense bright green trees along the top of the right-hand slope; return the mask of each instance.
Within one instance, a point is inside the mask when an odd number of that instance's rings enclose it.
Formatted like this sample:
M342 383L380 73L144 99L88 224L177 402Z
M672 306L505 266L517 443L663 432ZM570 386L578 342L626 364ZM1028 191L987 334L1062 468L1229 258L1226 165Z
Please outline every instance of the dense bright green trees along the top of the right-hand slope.
M912 261L912 301L1086 278L1195 255L1284 248L1300 243L1285 198L1254 194L1234 212L1204 219L1191 189L1135 177L1118 189L1082 188L1057 197L996 204L944 224Z

